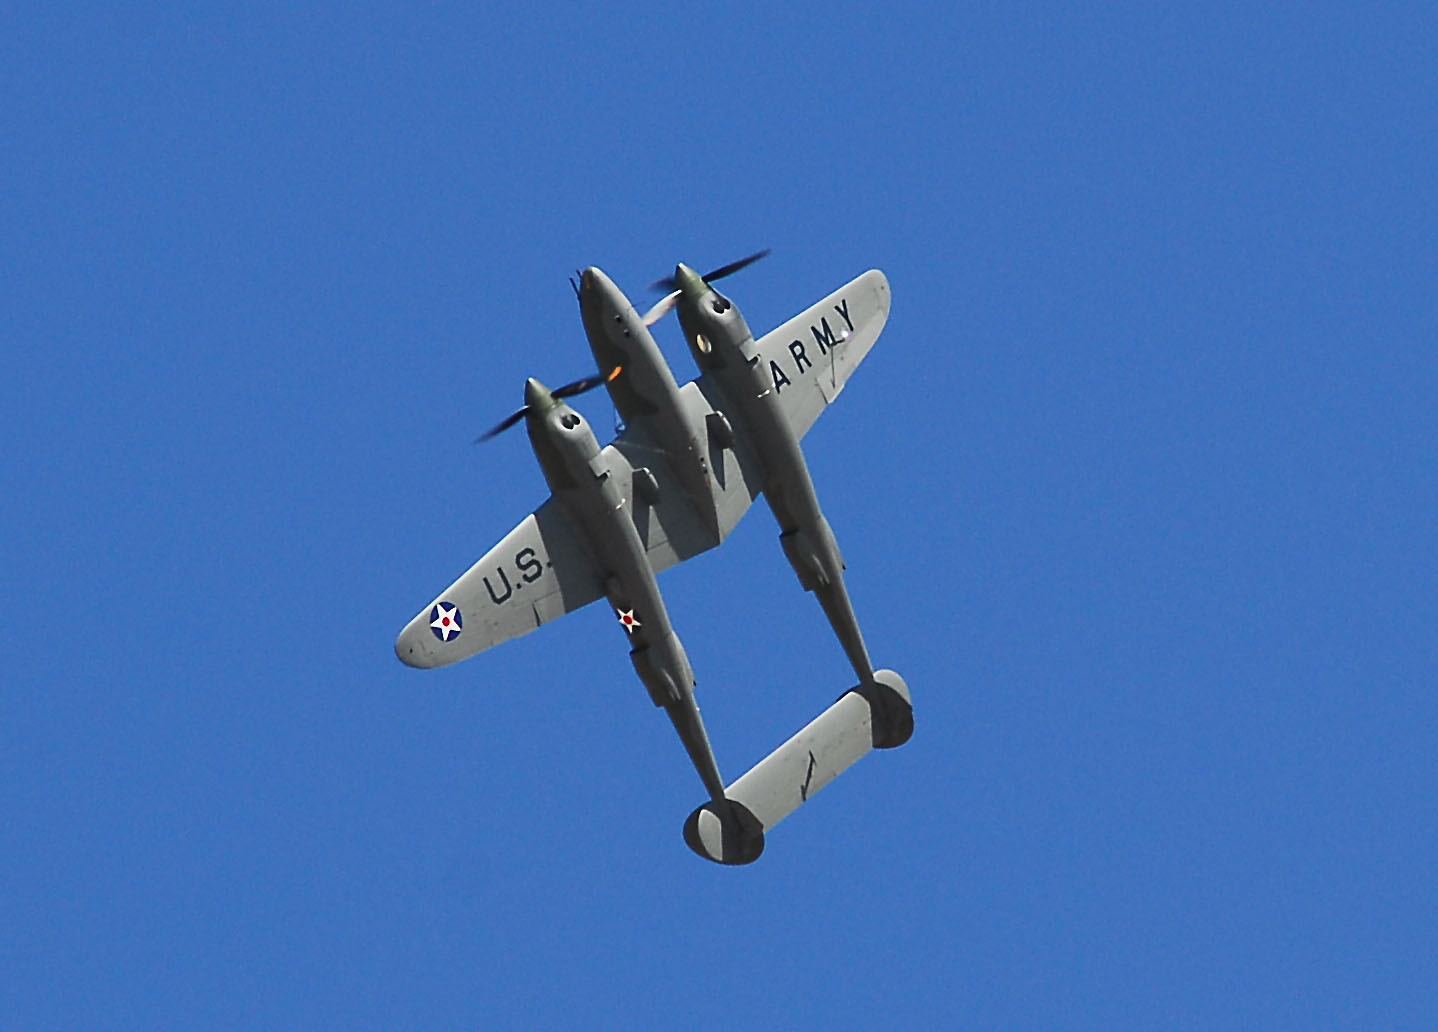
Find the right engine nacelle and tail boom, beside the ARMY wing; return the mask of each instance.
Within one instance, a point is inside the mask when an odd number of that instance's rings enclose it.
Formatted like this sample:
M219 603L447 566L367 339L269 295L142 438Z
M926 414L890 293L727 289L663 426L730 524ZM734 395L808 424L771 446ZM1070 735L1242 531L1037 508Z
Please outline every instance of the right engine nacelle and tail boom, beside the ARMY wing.
M764 497L779 525L779 542L800 584L812 591L860 683L874 667L844 588L844 559L814 493L798 436L779 408L778 394L743 315L699 273L674 269L679 323L695 362L713 377L764 464Z

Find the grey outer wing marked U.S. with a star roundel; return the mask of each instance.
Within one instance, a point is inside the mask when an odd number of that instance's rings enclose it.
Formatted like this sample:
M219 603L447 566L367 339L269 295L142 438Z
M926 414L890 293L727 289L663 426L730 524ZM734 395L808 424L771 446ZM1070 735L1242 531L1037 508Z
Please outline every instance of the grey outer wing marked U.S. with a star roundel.
M551 497L424 607L400 632L394 651L411 667L443 667L528 634L601 594L598 569Z

